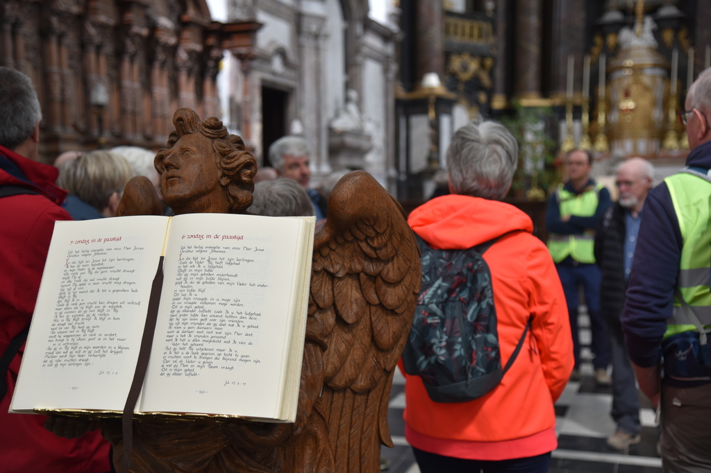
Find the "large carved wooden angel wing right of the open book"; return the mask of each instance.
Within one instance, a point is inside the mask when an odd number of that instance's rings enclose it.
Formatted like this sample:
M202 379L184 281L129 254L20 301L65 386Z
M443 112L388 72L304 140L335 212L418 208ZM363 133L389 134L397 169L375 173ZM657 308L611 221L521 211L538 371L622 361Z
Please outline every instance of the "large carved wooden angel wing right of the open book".
M387 403L420 273L402 207L368 173L342 178L316 234L309 298L309 332L326 347L316 410L328 425L337 472L376 471L380 442L392 446Z

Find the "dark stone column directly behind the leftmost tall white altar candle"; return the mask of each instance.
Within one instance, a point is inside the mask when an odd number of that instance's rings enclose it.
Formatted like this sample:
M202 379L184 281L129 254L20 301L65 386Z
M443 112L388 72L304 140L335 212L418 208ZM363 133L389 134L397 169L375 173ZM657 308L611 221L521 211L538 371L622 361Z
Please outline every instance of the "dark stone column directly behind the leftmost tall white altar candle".
M585 0L554 0L552 18L552 51L550 94L565 97L568 57L575 60L573 90L582 92L582 63L585 47Z

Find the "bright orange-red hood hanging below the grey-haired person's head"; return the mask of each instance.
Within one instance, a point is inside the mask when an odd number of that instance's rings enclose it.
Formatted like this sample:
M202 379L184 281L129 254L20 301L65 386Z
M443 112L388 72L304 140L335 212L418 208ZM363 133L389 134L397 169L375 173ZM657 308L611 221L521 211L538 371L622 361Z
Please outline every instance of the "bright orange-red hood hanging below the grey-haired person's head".
M407 223L434 249L466 249L514 230L533 232L530 217L513 205L468 195L432 199Z

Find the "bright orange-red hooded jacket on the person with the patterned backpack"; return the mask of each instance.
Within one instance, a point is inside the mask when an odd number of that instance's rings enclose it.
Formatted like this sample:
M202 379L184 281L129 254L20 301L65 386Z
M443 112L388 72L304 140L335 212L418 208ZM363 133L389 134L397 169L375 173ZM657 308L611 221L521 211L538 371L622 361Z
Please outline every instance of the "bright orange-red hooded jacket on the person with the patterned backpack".
M484 254L492 276L504 366L533 317L528 341L501 383L474 401L435 403L419 376L405 384L405 437L420 450L471 460L509 460L555 450L555 410L573 368L565 295L533 223L512 205L464 195L415 209L410 227L435 249L467 249L500 237Z

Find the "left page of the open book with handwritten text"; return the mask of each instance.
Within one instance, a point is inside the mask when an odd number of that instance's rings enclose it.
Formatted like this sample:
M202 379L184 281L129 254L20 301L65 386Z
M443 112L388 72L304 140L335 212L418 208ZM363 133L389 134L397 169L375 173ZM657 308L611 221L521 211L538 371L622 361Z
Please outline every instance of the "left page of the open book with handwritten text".
M55 224L11 410L122 411L167 223Z

